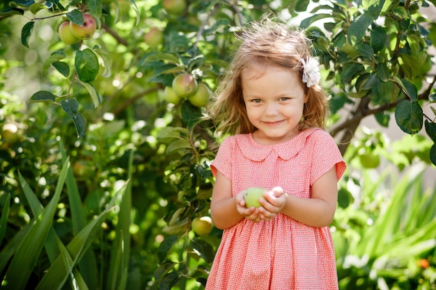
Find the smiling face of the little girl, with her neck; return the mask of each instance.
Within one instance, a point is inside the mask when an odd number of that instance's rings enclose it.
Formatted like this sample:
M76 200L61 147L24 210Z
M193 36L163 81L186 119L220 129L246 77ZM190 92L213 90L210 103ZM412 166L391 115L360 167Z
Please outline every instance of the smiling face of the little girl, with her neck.
M299 134L306 95L297 72L250 65L242 73L242 94L258 143L283 143Z

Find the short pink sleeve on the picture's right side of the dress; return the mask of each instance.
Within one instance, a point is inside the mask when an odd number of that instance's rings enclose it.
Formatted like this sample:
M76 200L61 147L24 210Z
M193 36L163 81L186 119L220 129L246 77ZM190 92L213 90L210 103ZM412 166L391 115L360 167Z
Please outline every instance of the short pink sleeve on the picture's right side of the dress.
M313 144L311 152L311 186L334 166L336 168L336 180L341 179L346 165L334 138L322 130L313 131L309 138Z

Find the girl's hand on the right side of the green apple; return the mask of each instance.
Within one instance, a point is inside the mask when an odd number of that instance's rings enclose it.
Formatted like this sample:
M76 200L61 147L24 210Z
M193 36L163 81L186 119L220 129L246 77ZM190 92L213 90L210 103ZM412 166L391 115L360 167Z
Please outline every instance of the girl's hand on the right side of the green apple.
M260 199L262 207L258 207L259 216L262 220L271 220L285 207L286 194L283 192L283 188L276 186L268 193L264 193L263 197L265 200Z

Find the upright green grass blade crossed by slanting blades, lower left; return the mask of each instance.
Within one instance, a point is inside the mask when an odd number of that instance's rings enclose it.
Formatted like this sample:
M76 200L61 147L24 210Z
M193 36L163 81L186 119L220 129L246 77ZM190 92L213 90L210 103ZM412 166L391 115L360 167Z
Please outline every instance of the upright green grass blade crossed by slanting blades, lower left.
M65 162L68 159L63 143L59 142L59 147L62 155L62 160ZM79 188L77 188L77 183L75 176L70 168L67 172L66 179L67 191L68 191L68 201L71 209L71 220L72 228L75 233L78 233L86 226L86 215L84 208L82 206ZM81 259L79 263L79 269L84 280L89 285L91 289L97 289L98 278L98 266L97 259L95 258L95 253L92 249L89 249Z

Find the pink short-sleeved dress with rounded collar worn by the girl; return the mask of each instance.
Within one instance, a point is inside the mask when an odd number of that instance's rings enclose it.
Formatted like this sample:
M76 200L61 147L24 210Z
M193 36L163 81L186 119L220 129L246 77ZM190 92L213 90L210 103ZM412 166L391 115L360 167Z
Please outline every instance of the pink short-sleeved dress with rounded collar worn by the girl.
M236 195L251 186L281 186L286 193L311 198L311 185L336 166L345 171L332 136L307 129L286 143L260 145L251 134L226 138L212 161L232 182ZM241 220L225 229L206 290L338 289L329 227L310 227L278 214L269 221Z

